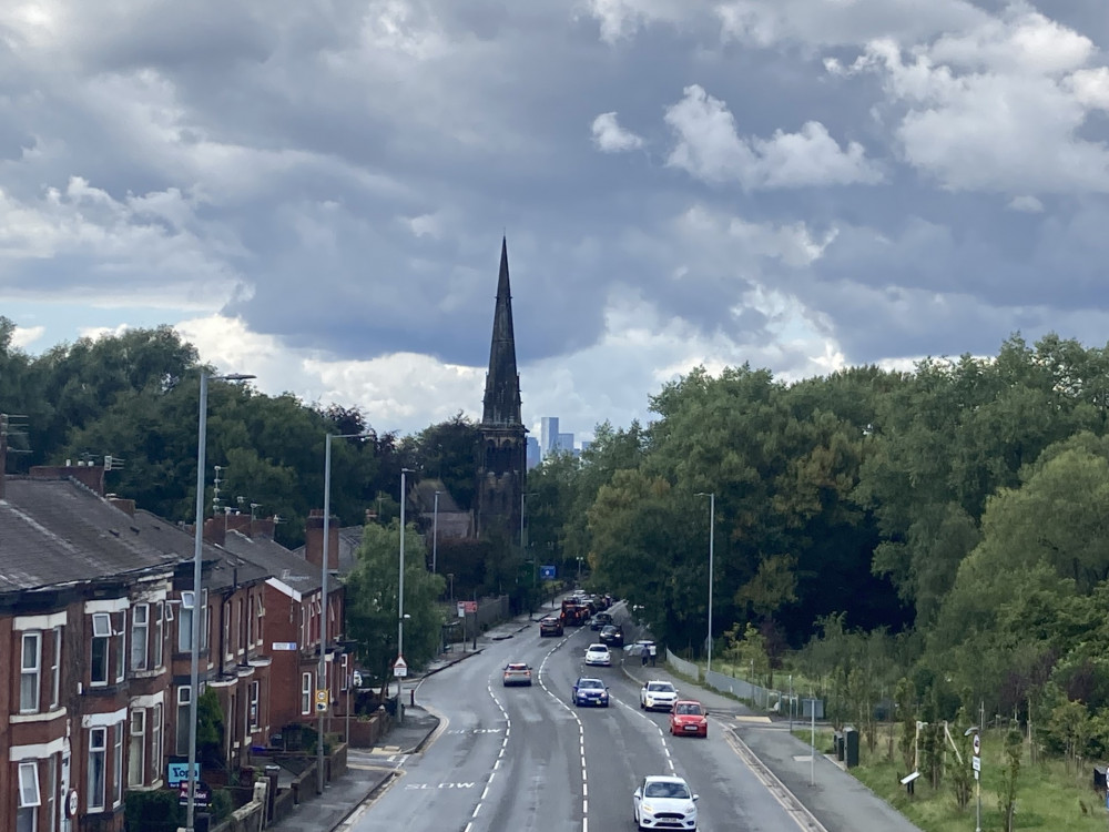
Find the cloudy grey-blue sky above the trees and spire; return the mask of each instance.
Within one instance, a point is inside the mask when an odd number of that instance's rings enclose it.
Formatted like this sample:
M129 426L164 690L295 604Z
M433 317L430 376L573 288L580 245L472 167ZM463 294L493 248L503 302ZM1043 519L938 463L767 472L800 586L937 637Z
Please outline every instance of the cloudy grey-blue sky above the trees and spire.
M9 0L0 314L525 420L1109 332L1105 0Z

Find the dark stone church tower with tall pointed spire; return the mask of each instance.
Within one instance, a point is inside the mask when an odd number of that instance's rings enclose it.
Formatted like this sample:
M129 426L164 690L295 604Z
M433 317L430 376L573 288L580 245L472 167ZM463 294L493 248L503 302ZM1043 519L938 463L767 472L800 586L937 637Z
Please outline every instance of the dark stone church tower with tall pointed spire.
M503 535L519 544L520 495L525 490L528 429L520 417L520 374L516 369L512 293L508 282L508 241L500 245L500 280L492 318L492 345L486 374L485 407L478 451L475 531Z

